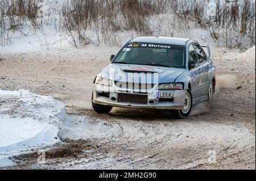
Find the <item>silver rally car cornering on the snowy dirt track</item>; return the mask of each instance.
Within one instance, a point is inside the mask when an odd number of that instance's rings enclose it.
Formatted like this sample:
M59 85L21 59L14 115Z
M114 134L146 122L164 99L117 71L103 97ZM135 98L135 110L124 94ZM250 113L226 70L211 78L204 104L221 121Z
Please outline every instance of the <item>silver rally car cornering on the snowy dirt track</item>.
M208 45L136 37L110 56L110 64L94 79L92 106L98 113L113 107L165 109L185 118L194 104L212 97L215 78Z

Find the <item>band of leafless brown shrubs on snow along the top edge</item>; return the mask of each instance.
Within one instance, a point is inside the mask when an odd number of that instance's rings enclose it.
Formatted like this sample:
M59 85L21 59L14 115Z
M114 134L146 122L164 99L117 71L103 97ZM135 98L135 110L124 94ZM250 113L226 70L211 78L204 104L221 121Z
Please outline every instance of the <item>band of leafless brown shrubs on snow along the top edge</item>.
M44 15L39 13L39 2L0 1L0 36L4 44L10 43L11 32L22 24L42 32L42 25L53 25L57 32L65 32L74 47L92 41L117 45L122 31L129 31L131 36L173 36L184 35L190 28L207 30L216 43L224 39L227 48L241 44L237 33L249 36L251 44L255 44L255 1L251 0L216 0L213 17L207 15L208 1L203 0L70 0L64 1L59 10L51 7ZM161 14L174 18L163 19Z

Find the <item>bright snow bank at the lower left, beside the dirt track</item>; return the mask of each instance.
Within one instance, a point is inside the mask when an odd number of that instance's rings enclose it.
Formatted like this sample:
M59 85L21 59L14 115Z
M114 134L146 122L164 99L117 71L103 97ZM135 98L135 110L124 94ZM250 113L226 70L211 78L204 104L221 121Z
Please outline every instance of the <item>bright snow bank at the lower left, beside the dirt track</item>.
M51 96L0 89L0 167L13 165L13 155L59 142L59 123L65 119L64 104Z

